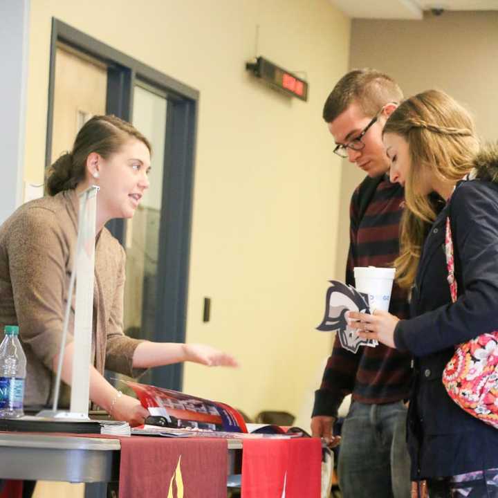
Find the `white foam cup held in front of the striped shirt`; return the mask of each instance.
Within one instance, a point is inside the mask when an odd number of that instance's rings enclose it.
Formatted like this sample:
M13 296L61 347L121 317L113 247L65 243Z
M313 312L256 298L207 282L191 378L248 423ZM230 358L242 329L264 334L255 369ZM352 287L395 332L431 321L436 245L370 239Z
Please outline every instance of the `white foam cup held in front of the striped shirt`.
M369 297L370 312L376 309L389 311L394 268L377 268L376 266L355 266L355 288Z

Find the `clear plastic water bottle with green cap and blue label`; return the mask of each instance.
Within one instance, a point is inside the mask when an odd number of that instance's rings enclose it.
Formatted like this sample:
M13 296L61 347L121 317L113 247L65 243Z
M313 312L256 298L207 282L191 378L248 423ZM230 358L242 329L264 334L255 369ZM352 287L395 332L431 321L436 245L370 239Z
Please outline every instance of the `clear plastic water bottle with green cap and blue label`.
M26 355L19 342L19 327L7 325L0 344L0 418L24 415Z

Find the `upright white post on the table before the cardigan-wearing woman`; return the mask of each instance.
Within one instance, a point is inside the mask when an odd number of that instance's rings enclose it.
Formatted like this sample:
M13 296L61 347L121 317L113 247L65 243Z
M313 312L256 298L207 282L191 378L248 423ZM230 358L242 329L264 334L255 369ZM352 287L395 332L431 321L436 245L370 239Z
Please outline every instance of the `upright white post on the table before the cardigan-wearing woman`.
M78 215L76 299L71 414L88 416L95 268L95 212L98 187L80 194Z

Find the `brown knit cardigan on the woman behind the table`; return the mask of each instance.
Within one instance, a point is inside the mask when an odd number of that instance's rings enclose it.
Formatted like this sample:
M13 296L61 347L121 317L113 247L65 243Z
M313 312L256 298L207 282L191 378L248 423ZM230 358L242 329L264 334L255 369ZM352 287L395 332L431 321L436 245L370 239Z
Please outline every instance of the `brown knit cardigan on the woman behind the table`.
M64 308L77 239L78 199L74 190L21 205L0 227L0 326L19 325L28 360L25 406L50 405L53 358L62 338ZM122 331L124 250L103 228L95 245L92 361L128 376L139 340ZM73 340L74 296L68 342ZM1 333L0 333L1 338ZM75 351L77 354L77 351ZM82 373L83 374L83 373ZM62 385L61 405L68 404Z

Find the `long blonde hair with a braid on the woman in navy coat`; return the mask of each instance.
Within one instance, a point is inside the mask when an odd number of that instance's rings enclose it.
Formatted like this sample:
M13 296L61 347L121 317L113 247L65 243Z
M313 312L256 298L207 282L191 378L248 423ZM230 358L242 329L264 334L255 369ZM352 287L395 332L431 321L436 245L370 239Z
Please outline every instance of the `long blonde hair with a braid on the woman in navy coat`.
M405 100L387 120L383 133L408 143L410 167L405 178L405 212L400 228L400 255L394 261L396 280L410 288L415 280L423 241L436 208L420 186L431 177L441 183L459 181L472 169L479 149L474 122L450 95L427 90Z

